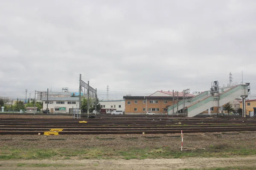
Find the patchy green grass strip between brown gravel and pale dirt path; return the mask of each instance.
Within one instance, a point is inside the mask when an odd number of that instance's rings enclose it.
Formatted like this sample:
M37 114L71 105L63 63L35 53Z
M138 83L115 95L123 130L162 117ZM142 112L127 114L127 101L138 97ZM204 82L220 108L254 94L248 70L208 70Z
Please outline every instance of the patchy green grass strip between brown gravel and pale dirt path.
M191 146L192 147L192 146ZM170 159L184 157L232 157L256 155L256 149L233 146L229 143L211 144L206 150L174 150L170 146L157 148L129 147L114 150L109 147L84 147L64 149L37 149L37 148L12 148L0 147L0 160L7 159ZM20 165L22 166L22 165ZM24 165L26 166L26 165Z

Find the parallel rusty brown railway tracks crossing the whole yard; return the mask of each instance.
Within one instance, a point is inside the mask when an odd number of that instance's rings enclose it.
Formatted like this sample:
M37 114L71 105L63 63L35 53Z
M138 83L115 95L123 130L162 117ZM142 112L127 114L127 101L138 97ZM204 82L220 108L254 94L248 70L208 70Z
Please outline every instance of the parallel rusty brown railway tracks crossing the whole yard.
M87 123L79 123L87 121ZM256 119L202 119L132 117L121 119L0 119L0 135L44 134L61 128L58 134L133 134L256 131Z

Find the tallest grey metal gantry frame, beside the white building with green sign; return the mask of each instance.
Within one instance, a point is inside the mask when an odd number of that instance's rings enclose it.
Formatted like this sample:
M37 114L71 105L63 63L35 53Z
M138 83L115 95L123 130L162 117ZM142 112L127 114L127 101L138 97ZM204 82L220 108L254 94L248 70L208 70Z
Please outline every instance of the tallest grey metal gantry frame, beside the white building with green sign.
M97 99L96 99L96 94L97 94L97 89L92 88L89 85L89 81L88 83L84 82L81 80L81 74L79 75L79 114L81 114L81 91L82 91L82 87L84 89L87 89L87 115L89 117L89 108L90 108L90 103L89 103L89 95L90 92L92 92L92 96L93 94L95 94L95 110L97 111Z

